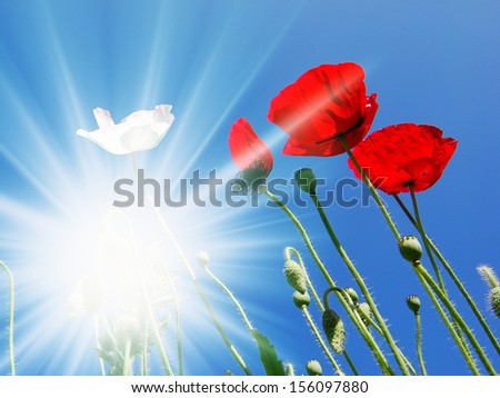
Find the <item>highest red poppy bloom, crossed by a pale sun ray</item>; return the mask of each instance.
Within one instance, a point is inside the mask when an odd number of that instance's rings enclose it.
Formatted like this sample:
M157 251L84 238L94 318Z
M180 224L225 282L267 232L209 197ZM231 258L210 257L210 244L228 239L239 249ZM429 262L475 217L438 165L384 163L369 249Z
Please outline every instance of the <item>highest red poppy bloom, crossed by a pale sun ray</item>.
M271 101L268 119L290 138L284 155L333 156L367 135L378 109L367 97L364 71L356 63L322 64L303 73Z

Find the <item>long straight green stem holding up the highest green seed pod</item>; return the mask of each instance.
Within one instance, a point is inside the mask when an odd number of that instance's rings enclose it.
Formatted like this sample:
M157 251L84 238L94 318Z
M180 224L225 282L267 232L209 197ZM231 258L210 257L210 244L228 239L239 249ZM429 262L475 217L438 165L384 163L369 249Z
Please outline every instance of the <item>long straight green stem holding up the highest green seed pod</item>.
M323 207L321 206L321 202L319 201L316 193L310 195L312 201L314 202L314 206L320 215L321 220L323 221L324 228L327 229L327 232L336 247L337 251L339 252L340 257L342 258L343 262L348 267L351 275L354 277L356 281L358 282L359 288L363 292L364 298L367 299L368 304L370 305L370 308L373 311L373 316L376 317L378 324L380 325L383 337L386 338L387 342L389 344L389 347L391 348L392 352L394 354L396 360L398 361L398 365L403 372L403 375L409 376L408 367L400 354L400 350L398 346L396 345L394 339L392 338L392 335L389 331L389 328L386 325L386 321L383 320L382 316L380 315L377 305L374 304L370 291L368 290L367 285L364 283L363 279L361 278L361 275L358 272L358 269L352 263L351 259L347 255L346 250L343 249L342 245L340 243L339 239L337 238L336 232L333 231L333 228L331 227L330 221L328 220L327 215L324 213Z

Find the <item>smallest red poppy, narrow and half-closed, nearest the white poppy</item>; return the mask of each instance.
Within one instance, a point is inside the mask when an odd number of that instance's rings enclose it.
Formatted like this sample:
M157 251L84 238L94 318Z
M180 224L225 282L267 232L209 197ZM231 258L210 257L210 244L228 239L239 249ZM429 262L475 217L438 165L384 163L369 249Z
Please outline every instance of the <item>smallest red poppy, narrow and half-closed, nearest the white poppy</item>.
M271 172L271 150L256 135L247 119L240 118L231 126L229 148L232 160L243 173L266 178Z

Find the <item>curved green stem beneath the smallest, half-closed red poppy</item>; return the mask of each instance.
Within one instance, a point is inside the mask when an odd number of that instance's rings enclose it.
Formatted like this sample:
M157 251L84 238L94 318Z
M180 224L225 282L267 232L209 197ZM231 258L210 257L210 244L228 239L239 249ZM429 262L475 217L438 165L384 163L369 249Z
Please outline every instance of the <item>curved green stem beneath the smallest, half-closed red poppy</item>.
M323 262L319 258L314 247L312 246L311 239L309 238L309 235L307 233L306 229L303 228L302 223L299 221L299 219L293 215L293 212L284 205L281 200L279 200L276 196L273 196L271 192L269 192L263 186L260 187L260 191L264 193L268 198L270 198L272 201L274 201L278 207L284 211L284 213L290 218L290 220L293 222L296 228L299 230L300 235L302 236L302 239L306 243L306 246L309 249L309 252L311 253L312 258L314 259L318 268L320 269L321 273L323 275L324 279L327 280L328 285L330 287L336 288L336 283L333 279L330 277L330 275L327 271L327 268L324 267ZM380 369L386 375L394 375L394 371L392 370L391 366L389 365L389 361L384 357L383 352L381 351L380 347L374 341L373 337L371 336L370 331L367 329L364 324L359 318L359 315L352 310L352 308L349 306L349 304L346 301L344 297L340 292L336 292L337 297L339 298L340 302L342 304L343 308L348 312L349 317L351 318L354 326L358 328L359 332L363 337L364 341L367 342L368 347L377 358L377 361L380 366Z

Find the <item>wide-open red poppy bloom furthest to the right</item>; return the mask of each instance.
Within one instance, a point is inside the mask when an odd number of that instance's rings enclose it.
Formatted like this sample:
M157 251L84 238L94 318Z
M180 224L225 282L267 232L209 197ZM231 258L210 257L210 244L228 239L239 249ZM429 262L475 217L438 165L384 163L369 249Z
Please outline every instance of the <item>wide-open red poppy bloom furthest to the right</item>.
M402 123L371 133L352 153L374 187L388 195L432 187L453 156L458 141L433 126ZM349 159L358 178L358 169Z

